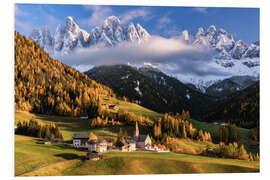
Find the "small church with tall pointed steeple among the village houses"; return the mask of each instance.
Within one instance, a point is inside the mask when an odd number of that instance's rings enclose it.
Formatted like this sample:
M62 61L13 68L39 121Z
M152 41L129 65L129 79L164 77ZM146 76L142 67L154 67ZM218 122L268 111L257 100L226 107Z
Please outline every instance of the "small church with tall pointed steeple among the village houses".
M136 141L136 147L140 149L149 149L152 145L151 138L149 134L141 134L139 132L138 122L136 122L136 127L134 131L134 140Z

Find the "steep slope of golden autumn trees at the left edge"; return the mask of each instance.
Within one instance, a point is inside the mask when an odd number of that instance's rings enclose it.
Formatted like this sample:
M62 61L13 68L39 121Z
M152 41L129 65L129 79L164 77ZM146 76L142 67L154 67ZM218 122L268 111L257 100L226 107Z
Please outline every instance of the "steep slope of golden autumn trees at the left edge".
M112 90L54 60L31 39L15 32L15 108L42 114L97 114L99 95Z

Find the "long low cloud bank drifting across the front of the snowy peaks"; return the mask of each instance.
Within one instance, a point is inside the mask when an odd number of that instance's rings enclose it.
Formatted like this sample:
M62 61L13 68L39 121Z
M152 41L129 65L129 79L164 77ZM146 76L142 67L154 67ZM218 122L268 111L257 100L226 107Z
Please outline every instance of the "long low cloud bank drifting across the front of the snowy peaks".
M86 68L114 64L158 64L170 74L196 76L225 76L226 72L213 66L212 51L185 44L181 38L166 39L159 36L136 44L123 42L113 48L91 47L79 49L61 57L64 63L85 71Z

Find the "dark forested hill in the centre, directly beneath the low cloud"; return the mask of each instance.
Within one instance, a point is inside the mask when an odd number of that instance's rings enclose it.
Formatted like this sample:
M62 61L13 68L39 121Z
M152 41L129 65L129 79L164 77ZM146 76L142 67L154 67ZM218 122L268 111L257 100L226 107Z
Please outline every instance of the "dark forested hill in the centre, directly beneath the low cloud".
M184 109L194 116L213 103L211 97L150 67L99 66L85 73L112 88L118 97L126 97L157 112L181 112Z

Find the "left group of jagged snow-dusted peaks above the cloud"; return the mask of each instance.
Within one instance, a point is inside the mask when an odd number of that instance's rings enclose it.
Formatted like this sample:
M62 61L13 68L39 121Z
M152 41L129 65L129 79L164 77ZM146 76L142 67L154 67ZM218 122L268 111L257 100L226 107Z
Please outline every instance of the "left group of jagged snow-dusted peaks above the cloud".
M88 48L93 45L100 48L114 47L124 41L140 44L150 37L140 24L135 27L130 23L126 27L115 16L109 16L101 26L93 28L91 33L81 29L74 19L68 16L65 26L58 25L53 37L49 30L44 28L34 29L30 35L31 39L53 56L70 54L76 48Z

